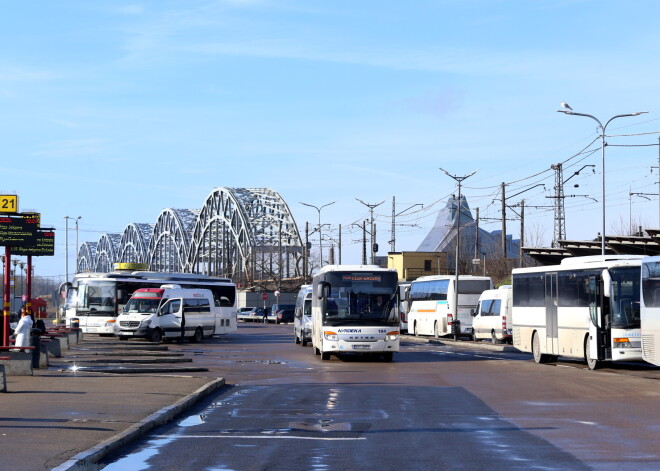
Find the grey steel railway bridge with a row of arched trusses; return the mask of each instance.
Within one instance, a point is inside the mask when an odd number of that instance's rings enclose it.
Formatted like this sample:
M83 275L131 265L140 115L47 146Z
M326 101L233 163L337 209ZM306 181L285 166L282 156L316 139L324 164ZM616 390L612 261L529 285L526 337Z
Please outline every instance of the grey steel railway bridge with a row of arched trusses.
M150 271L229 277L245 288L300 284L303 243L288 205L269 188L215 188L201 209L164 209L155 223L83 242L76 272L142 263ZM295 281L294 281L295 280Z

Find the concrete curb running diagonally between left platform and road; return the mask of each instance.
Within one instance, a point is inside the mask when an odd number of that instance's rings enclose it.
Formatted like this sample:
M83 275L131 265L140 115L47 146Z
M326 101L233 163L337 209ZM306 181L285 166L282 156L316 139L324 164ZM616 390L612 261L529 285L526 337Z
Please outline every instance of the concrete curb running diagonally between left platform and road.
M119 448L133 440L139 439L154 428L171 421L174 419L174 417L195 405L199 400L219 390L224 385L224 378L214 379L213 381L206 383L197 391L181 398L170 406L163 407L162 409L151 414L149 417L131 425L128 429L118 433L114 437L104 440L98 445L78 453L58 467L53 468L51 471L98 470L100 469L98 463L110 453L117 451Z

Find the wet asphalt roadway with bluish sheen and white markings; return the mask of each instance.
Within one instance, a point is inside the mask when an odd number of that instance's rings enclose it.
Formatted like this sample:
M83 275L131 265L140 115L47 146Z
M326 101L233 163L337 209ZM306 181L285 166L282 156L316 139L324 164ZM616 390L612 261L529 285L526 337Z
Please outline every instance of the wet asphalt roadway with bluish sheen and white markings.
M189 346L229 386L104 469L660 469L660 369L414 338L392 363L321 361L290 330Z

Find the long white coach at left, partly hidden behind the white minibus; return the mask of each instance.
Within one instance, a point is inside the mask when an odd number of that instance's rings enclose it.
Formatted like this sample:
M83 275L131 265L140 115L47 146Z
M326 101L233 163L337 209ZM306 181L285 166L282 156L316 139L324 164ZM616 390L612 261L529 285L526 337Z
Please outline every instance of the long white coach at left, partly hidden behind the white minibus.
M223 308L223 315L229 319L225 333L236 331L236 286L231 280L193 273L148 271L76 274L66 294L65 324L70 326L72 321L77 321L84 333L111 336L117 316L135 290L160 288L164 284L211 290L215 305Z

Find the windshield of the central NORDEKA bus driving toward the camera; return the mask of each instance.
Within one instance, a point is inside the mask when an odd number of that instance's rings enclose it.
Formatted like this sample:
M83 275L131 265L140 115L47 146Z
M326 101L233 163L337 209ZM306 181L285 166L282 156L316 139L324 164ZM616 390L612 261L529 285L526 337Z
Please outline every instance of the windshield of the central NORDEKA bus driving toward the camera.
M396 273L333 272L325 281L330 284L330 293L324 324L398 323Z

